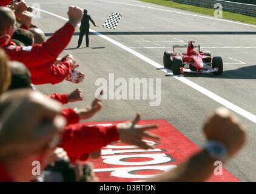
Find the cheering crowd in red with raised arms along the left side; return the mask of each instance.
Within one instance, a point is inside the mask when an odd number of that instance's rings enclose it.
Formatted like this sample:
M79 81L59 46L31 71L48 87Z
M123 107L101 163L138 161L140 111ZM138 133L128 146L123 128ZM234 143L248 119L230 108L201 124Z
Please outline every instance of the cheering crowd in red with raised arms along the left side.
M73 164L74 181L98 181L86 161L98 158L101 148L110 142L120 140L153 149L143 138L159 139L148 132L158 127L138 125L140 115L123 124L88 126L80 120L92 118L102 109L100 99L81 109L64 108L63 104L83 101L83 91L43 95L35 90L38 84L83 82L84 73L76 69L73 56L59 58L83 17L81 8L70 6L69 21L46 40L42 30L32 24L33 10L24 1L1 1L0 6L0 181L35 181L60 160ZM243 127L223 108L207 118L203 130L208 141L226 147L227 159L245 142ZM32 173L35 161L41 164L41 176ZM214 171L214 162L202 149L175 170L150 181L204 181Z

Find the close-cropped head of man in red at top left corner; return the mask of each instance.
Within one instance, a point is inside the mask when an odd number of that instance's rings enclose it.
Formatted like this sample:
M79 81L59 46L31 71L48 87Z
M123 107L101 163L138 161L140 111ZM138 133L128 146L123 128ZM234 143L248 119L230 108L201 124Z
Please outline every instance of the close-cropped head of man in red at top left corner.
M16 23L15 13L8 7L0 7L0 21L0 36L9 35L12 37Z

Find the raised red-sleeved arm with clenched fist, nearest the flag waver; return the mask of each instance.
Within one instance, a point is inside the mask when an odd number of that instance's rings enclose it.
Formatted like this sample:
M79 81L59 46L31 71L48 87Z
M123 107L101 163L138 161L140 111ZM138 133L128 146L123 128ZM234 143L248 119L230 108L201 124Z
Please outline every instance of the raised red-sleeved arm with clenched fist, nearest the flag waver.
M11 60L23 62L27 67L36 67L55 61L69 44L76 25L81 21L83 10L78 7L69 7L68 15L69 21L42 45L35 44L32 47L10 45L5 48L5 52Z

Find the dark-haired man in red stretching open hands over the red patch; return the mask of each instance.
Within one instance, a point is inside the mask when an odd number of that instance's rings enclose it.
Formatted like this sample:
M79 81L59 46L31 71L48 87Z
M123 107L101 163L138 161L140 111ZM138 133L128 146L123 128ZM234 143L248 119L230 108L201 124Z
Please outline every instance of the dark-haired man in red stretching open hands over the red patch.
M10 62L12 72L12 84L9 89L21 89L30 87L30 75L27 68L20 62ZM59 95L52 95L59 101ZM62 101L62 100L61 100ZM140 121L140 116L136 116L133 122L122 125L110 126L88 126L86 123L79 123L79 120L92 118L102 108L99 99L95 99L91 105L81 109L66 108L61 110L61 115L66 118L66 128L62 134L62 141L59 147L64 148L70 159L86 160L91 152L100 150L110 142L121 140L129 144L150 149L143 137L156 138L157 136L147 132L149 129L155 129L157 126L140 126L136 125ZM133 125L131 123L134 123ZM127 131L127 129L130 129Z

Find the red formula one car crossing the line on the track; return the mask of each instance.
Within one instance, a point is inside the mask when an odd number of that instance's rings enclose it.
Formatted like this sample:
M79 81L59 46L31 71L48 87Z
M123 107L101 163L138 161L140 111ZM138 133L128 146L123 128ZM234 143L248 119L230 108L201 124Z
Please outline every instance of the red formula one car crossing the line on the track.
M187 53L175 53L175 48L187 48ZM198 52L195 48L198 48ZM189 41L188 45L173 45L173 51L164 52L164 67L172 70L174 75L183 73L221 75L223 61L220 56L212 58L209 51L201 52L200 45L194 45L194 41Z

